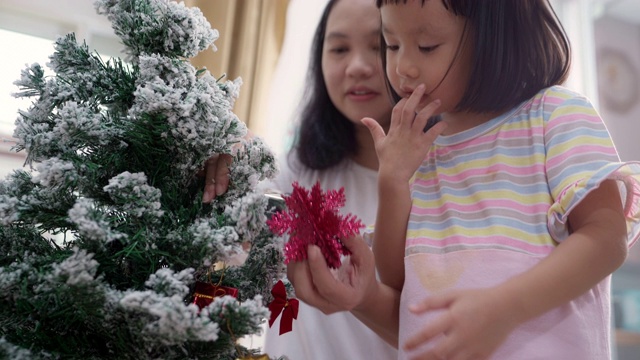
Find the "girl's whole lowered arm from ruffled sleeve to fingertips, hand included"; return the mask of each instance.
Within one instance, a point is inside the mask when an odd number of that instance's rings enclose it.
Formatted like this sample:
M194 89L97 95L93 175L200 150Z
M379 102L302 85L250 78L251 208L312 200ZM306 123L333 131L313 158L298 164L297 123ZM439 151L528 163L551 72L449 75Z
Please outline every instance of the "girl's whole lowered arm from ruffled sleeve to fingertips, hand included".
M415 313L446 311L400 346L415 349L445 333L422 354L426 359L488 357L519 324L579 297L624 262L627 227L614 180L587 195L569 214L569 225L571 235L530 270L494 288L452 291L413 306Z

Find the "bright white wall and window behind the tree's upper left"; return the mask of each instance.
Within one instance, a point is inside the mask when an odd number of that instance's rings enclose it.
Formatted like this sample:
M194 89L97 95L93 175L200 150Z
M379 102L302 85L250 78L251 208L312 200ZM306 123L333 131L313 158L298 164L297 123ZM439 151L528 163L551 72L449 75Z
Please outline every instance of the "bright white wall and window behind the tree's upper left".
M26 155L11 152L18 110L26 110L30 99L15 99L13 82L27 64L40 63L45 74L53 43L70 32L91 49L119 56L122 46L105 16L98 15L91 0L0 0L0 179L21 168Z

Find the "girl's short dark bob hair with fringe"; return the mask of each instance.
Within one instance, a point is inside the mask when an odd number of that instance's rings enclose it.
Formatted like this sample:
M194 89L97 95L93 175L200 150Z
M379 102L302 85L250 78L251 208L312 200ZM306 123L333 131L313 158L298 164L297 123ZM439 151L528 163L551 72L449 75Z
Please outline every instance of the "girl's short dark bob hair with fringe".
M422 0L422 4L427 1L442 1L451 13L465 18L463 36L471 36L474 44L469 84L457 110L506 111L566 80L571 48L548 0ZM378 8L406 3L376 0ZM383 63L386 67L384 51Z

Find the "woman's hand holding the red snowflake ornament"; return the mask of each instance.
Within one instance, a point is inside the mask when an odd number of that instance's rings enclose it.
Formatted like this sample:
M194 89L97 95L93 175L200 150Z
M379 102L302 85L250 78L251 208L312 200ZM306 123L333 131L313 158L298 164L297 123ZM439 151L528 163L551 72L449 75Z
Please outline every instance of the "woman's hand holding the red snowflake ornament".
M357 309L376 286L373 253L361 236L343 239L351 251L348 262L332 272L320 249L310 245L308 259L287 265L296 297L325 314Z

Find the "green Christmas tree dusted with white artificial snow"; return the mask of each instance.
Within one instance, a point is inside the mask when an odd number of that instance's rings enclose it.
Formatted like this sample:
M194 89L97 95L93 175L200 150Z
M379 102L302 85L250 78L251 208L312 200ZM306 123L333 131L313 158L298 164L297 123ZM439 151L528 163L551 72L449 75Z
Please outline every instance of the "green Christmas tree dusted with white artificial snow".
M199 9L95 7L124 59L69 34L54 76L15 82L33 102L14 132L27 166L0 182L0 358L251 358L237 340L261 331L284 268L256 191L274 157L232 111L241 82L190 64L218 37ZM203 204L198 173L223 153L231 185Z

